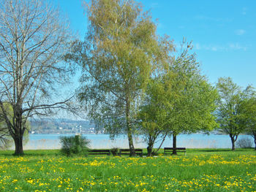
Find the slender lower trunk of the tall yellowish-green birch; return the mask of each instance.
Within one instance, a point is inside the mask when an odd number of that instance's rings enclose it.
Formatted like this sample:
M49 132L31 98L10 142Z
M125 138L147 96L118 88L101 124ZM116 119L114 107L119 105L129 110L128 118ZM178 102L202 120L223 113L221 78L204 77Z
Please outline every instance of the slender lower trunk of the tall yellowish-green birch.
M129 155L130 156L135 156L135 147L133 145L133 139L132 139L132 125L131 125L131 120L129 117L129 99L127 99L127 104L126 104L126 119L127 119L127 137L128 137L128 142L129 142Z

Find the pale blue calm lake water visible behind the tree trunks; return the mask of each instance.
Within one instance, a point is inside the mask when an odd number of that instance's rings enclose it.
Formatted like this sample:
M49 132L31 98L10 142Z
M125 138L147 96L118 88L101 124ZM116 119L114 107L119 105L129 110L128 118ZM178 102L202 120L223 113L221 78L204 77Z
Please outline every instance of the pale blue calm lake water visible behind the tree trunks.
M70 134L69 134L70 135ZM61 147L59 142L60 136L68 136L68 134L30 134L29 142L24 145L25 150L32 149L59 149ZM122 147L128 148L128 139L125 136L116 138L114 141L109 139L108 134L84 134L87 139L91 141L92 148L112 148ZM252 137L247 135L241 135L238 139ZM146 147L146 143L143 142L142 137L134 139L135 147ZM154 147L159 147L159 140ZM172 139L166 138L162 147L171 147ZM181 134L177 137L177 147L187 148L230 148L231 142L228 135L204 135L204 134Z

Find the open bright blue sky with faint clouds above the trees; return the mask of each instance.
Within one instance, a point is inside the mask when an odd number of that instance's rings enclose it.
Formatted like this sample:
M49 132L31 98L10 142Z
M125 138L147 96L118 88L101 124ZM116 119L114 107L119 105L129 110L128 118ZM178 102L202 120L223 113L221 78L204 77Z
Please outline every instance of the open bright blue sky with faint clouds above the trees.
M241 87L256 88L255 0L138 0L150 10L157 34L175 44L192 41L202 74L209 82L231 77ZM81 0L53 0L69 18L70 27L83 39L87 19ZM104 10L102 10L104 11Z

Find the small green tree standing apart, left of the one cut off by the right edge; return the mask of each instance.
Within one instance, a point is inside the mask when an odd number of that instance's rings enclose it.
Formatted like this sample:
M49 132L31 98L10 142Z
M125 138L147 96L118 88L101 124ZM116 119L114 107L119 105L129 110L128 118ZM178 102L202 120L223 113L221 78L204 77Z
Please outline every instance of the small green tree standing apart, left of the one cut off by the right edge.
M245 99L252 92L252 88L247 86L242 91L230 77L221 77L217 83L217 90L219 131L230 136L232 150L235 150L238 135L246 129Z

